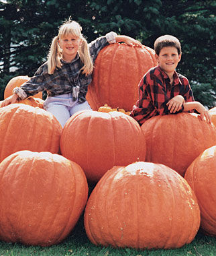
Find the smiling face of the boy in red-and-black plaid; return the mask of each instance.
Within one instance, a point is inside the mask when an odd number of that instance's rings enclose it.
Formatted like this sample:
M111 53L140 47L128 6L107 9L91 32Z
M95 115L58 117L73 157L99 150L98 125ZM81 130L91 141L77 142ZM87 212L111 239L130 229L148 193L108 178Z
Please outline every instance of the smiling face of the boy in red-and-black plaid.
M158 65L168 75L173 75L178 62L180 61L181 55L178 55L178 51L173 46L164 47L160 50L159 55L155 55Z

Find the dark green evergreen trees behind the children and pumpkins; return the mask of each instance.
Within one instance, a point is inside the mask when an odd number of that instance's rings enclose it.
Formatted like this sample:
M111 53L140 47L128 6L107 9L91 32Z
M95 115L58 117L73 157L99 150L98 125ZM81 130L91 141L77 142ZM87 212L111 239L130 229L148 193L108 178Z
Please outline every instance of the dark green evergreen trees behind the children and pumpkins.
M0 1L0 99L9 79L32 76L46 60L52 38L71 16L89 42L113 30L151 48L163 34L182 44L178 72L195 99L215 106L215 9L211 0L8 0Z

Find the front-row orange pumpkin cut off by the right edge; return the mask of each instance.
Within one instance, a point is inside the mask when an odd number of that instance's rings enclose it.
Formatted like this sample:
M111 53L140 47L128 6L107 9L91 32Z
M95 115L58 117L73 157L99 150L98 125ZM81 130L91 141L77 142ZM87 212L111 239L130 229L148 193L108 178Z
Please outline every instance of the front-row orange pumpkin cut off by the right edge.
M185 172L201 210L201 228L205 233L216 236L216 146L208 148Z

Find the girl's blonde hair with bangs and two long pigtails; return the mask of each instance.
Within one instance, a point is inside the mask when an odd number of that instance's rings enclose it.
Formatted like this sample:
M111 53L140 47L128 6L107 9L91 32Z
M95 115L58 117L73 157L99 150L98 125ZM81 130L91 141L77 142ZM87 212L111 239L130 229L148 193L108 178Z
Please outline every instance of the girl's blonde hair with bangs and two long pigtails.
M52 39L52 44L50 46L50 53L48 55L49 74L53 74L56 68L60 68L62 66L62 63L60 61L62 59L62 49L58 44L58 39L68 35L80 38L82 40L80 49L78 49L80 61L83 63L83 67L80 69L80 71L82 71L85 75L89 75L92 73L93 62L89 53L89 46L81 31L82 27L77 22L70 20L70 18L66 20L62 24L62 26L60 26L58 30L58 36L55 36Z

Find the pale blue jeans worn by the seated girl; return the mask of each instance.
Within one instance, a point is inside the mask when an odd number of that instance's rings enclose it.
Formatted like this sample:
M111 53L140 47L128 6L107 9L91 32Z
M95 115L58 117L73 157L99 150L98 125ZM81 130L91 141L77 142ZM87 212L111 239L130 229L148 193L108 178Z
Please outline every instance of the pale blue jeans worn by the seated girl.
M77 111L91 110L87 100L83 103L72 100L72 94L48 96L44 101L44 109L52 113L58 122L64 127L66 121Z

